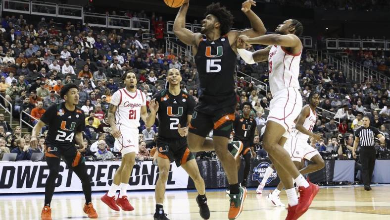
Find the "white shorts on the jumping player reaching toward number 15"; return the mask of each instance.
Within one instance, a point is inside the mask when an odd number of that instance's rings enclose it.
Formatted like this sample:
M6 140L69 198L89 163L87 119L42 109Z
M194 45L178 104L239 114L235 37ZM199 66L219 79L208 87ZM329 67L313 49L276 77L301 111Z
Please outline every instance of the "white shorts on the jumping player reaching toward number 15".
M268 119L282 125L286 132L283 137L289 138L289 134L295 128L294 120L302 110L302 97L297 88L289 87L272 94Z

